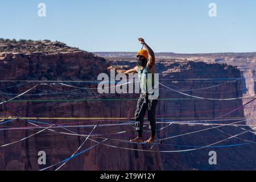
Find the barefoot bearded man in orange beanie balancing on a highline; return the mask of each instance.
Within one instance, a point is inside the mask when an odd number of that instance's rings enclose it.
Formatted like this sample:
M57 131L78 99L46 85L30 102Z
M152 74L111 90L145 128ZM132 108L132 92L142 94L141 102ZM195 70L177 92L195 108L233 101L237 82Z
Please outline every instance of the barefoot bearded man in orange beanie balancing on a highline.
M156 130L156 120L155 120L155 110L156 110L156 105L158 104L157 99L150 99L154 95L154 90L148 89L152 88L154 86L154 73L155 73L155 53L152 51L152 49L144 42L144 39L139 38L138 39L141 44L146 48L141 49L137 53L138 57L138 62L137 65L129 69L127 71L123 70L116 70L118 73L125 73L128 75L129 73L138 73L139 77L139 86L141 88L141 93L137 102L137 108L135 111L135 127L136 131L138 132L138 137L131 139L131 142L137 142L137 143L142 143L142 131L143 131L143 119L144 115L147 110L148 114L148 121L150 122L149 128L151 129L151 137L144 141L144 143L154 143L156 138L155 138L155 130ZM112 66L108 68L114 69ZM152 76L148 76L148 73L152 73ZM148 86L151 85L151 86Z

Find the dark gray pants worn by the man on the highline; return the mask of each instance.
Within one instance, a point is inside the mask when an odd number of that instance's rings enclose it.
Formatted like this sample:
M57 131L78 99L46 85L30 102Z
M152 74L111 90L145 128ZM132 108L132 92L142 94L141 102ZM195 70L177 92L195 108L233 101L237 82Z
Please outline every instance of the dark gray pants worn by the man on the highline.
M143 94L139 95L137 102L137 108L135 111L135 127L136 131L143 131L143 119L147 110L148 121L150 122L149 129L155 131L156 120L155 120L155 109L158 104L158 100L148 100L147 96L144 97Z

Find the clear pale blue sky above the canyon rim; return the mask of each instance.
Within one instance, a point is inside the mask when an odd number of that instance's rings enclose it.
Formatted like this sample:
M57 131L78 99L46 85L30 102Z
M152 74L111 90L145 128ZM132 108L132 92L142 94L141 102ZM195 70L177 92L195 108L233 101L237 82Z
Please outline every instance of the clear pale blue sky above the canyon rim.
M254 0L10 0L0 2L0 22L1 38L59 40L90 52L138 51L138 37L155 52L256 52Z

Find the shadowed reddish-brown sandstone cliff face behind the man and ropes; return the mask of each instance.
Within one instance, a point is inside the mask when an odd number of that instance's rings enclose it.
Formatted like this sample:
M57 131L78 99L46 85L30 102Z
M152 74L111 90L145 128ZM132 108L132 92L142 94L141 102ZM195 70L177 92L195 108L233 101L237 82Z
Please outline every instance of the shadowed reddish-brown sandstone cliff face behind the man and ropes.
M23 96L16 98L22 100L18 102L7 102L0 105L2 117L44 117L44 118L128 118L133 120L138 94L98 94L97 84L93 82L73 82L73 81L96 81L99 73L109 73L106 68L110 65L118 67L131 67L135 61L127 60L109 60L93 55L85 51L74 52L56 52L56 53L28 53L21 52L2 53L0 56L1 69L1 100L6 101L15 95L23 93L35 84L55 83L55 85L39 85ZM122 63L122 64L120 64ZM205 98L234 98L242 97L241 81L220 82L220 81L197 81L186 80L187 78L222 78L222 77L240 77L241 72L226 64L208 64L194 61L170 61L158 60L156 70L160 73L160 80L168 87L185 90L182 91L193 96ZM6 82L4 80L16 80ZM17 80L23 80L18 82ZM24 80L33 80L27 82ZM86 89L75 89L70 86L59 85L53 81L72 81L64 82L72 86ZM52 82L51 82L52 81ZM59 83L59 82L57 82ZM201 88L208 88L200 90ZM18 85L18 86L17 86ZM199 89L199 90L194 90ZM58 94L56 94L58 92ZM102 99L115 99L105 100ZM91 100L90 100L91 99ZM95 100L101 99L101 100ZM117 100L118 99L118 100ZM130 100L123 100L130 99ZM134 99L134 100L133 100ZM25 100L28 100L27 102ZM47 102L44 102L48 100ZM71 101L73 100L73 101ZM213 101L197 100L172 92L166 88L161 88L156 111L157 121L190 121L191 119L212 119L228 113L242 105L241 100L232 101ZM224 118L243 118L245 113L243 109L226 115ZM73 125L96 125L102 123L125 122L126 119L113 121L111 119L98 119L91 121L89 119L34 119L39 122L56 123L64 125L73 123ZM111 121L110 121L111 120ZM237 120L235 120L237 121ZM234 120L222 121L218 123L232 123ZM145 118L146 122L146 118ZM245 122L240 124L245 125ZM4 123L1 129L5 127L28 127L32 126L24 119ZM158 124L158 128L166 124ZM163 145L156 144L152 150L172 151L196 148L196 146L206 146L207 144L217 142L222 139L242 133L248 130L247 126L223 126L222 131L211 129L200 133L184 135L165 140ZM158 131L159 138L171 137L174 135L189 133L196 130L207 129L210 126L203 125L177 125L172 124L166 129ZM65 132L61 128L56 131ZM77 127L73 131L79 134L88 134L92 128ZM119 135L108 135L127 130L127 133ZM146 125L145 130L148 130ZM38 131L38 129L36 130ZM21 138L34 134L34 130L0 130L1 145L14 142ZM96 134L104 134L102 137L129 139L134 137L132 126L112 126L96 127L93 131ZM144 133L144 139L150 133ZM254 141L254 135L245 133L239 136L242 139ZM98 141L101 139L94 138ZM21 142L11 144L10 146L0 148L0 169L12 170L38 170L60 160L68 158L81 145L84 138L64 135L60 133L42 132L33 137L22 140ZM246 143L246 144L244 144ZM93 146L92 140L86 141L81 150ZM118 147L135 148L150 150L151 146L123 143L115 140L108 140L105 144ZM103 144L92 148L77 158L71 159L61 169L63 170L183 170L183 169L251 169L255 170L255 144L245 142L244 140L232 138L218 145L243 144L234 147L203 148L190 152L142 152L125 150L104 146ZM183 146L179 146L183 145ZM194 147L184 147L194 146ZM46 151L47 164L39 166L38 151ZM208 163L209 151L217 152L216 166L210 166ZM57 166L51 168L52 170Z

